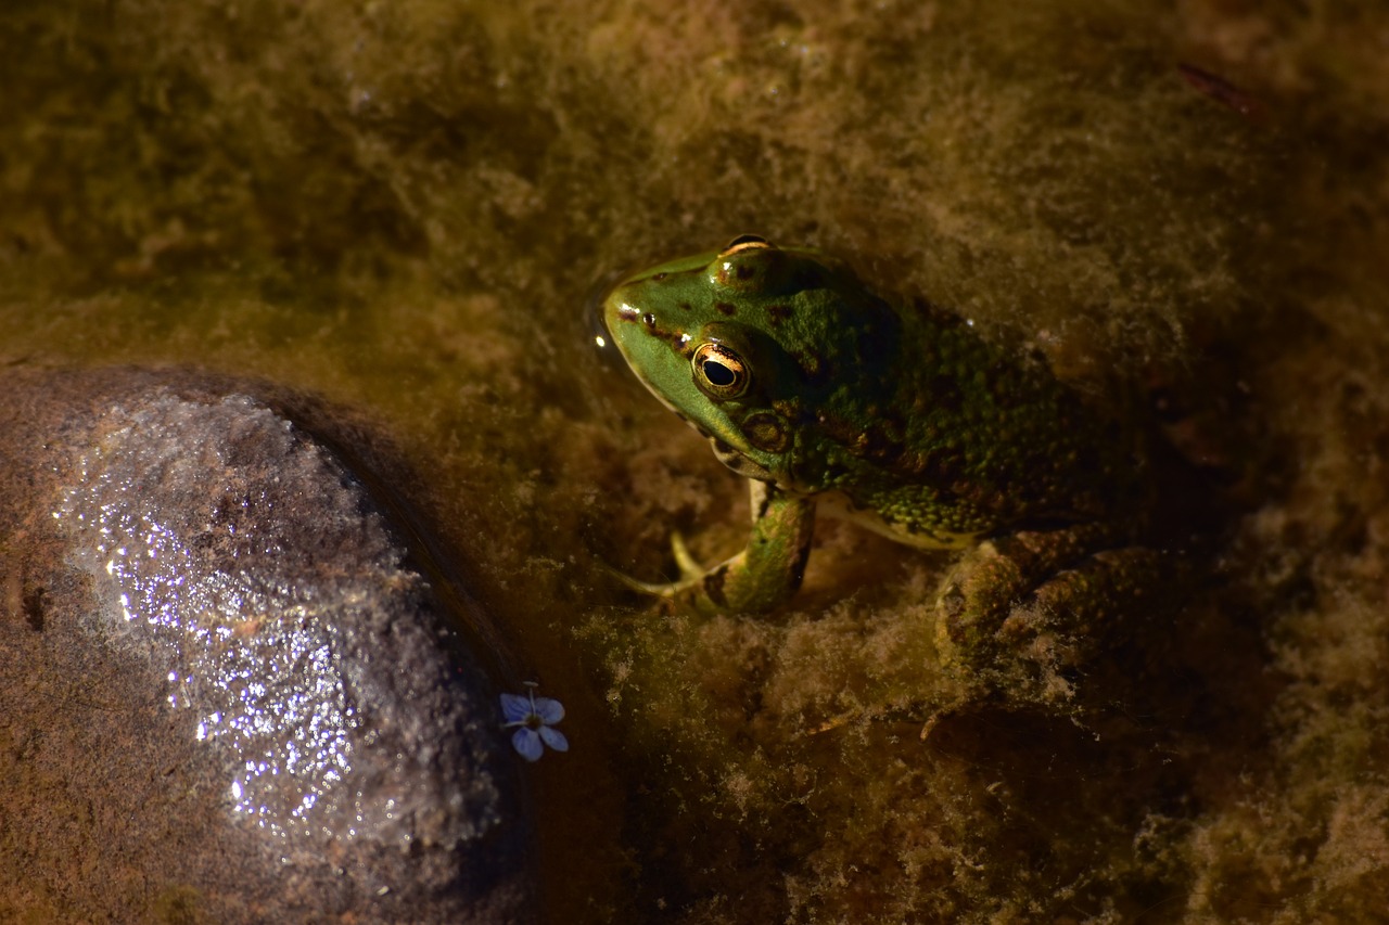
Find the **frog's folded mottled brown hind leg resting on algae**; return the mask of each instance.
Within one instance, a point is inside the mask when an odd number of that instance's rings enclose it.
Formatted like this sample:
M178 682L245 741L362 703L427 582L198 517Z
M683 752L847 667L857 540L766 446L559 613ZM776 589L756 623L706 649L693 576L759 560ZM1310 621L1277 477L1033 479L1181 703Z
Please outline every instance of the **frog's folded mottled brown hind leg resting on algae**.
M1131 611L1176 592L1179 557L1104 525L1022 531L981 543L946 579L936 603L942 662L976 675L1021 660L1067 667L1114 640ZM1103 550L1103 551L1092 551Z

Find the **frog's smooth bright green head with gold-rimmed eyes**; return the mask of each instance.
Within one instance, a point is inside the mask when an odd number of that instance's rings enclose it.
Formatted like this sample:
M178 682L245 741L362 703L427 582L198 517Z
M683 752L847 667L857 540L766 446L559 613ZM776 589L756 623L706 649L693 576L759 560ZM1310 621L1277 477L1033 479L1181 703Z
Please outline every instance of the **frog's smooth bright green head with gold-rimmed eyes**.
M820 251L745 235L628 276L606 296L603 319L646 388L725 465L785 483L831 385L831 354L853 340L854 325L836 322L860 297L851 279Z

